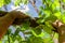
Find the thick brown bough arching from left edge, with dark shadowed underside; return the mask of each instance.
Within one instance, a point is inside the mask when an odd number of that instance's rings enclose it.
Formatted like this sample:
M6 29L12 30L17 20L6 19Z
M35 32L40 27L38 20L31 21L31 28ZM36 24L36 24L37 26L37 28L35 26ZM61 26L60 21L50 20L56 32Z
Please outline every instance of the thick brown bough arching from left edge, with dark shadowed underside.
M5 34L8 28L11 25L18 25L27 22L29 18L29 23L31 27L38 26L35 19L30 18L30 16L25 15L20 11L11 11L11 12L0 12L0 39Z

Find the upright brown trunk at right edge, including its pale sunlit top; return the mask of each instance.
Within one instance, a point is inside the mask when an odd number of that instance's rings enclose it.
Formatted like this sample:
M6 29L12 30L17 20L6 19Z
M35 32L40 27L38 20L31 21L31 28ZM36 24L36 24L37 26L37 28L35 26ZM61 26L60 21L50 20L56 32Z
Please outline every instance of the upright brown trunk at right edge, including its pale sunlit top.
M65 24L63 24L61 20L55 20L52 26L57 30L58 43L65 43Z

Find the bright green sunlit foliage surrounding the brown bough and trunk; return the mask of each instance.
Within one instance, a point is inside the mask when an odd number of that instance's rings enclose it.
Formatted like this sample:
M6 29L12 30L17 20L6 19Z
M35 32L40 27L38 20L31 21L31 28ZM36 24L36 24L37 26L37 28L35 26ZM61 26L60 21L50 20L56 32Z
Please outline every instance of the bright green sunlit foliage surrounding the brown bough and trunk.
M50 22L60 19L65 24L65 12L62 13L60 0L41 1L42 5L39 8L39 19L37 20L39 26L31 28L29 27L28 22L24 23L22 26L16 28L14 33L12 33L12 30L6 33L2 40L4 43L53 43L51 34L54 33L52 31L54 28L50 25ZM10 2L11 0L0 0L0 8ZM62 2L65 3L65 0L62 0ZM20 3L27 4L29 3L29 0L14 0L15 5L20 5ZM18 34L20 32L23 33L23 37ZM57 34L55 37L57 38ZM4 40L5 38L8 39Z

